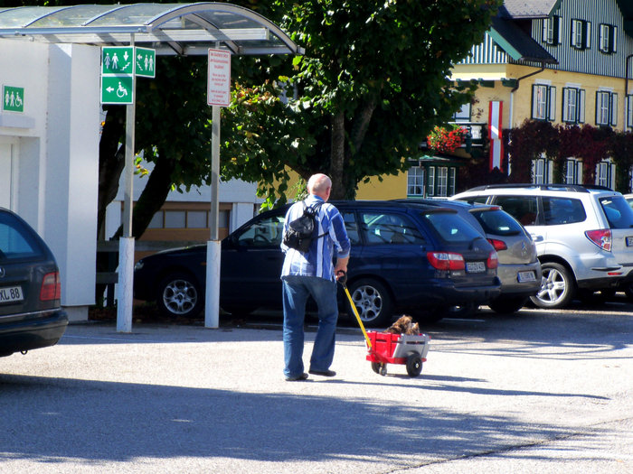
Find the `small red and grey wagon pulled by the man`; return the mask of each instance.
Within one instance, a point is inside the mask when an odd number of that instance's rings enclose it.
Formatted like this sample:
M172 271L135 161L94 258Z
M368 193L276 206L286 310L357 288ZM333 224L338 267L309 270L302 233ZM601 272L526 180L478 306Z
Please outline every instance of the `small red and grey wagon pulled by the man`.
M387 374L387 364L407 366L409 376L419 376L422 362L426 362L429 352L428 334L392 334L389 332L367 332L369 353L367 360L372 362L376 374Z

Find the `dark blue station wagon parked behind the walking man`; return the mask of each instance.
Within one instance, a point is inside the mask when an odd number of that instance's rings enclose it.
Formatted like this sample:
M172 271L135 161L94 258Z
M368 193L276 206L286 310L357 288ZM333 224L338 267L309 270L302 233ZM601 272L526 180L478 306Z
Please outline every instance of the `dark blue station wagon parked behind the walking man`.
M496 251L455 210L391 201L334 204L352 241L347 287L367 325L388 324L396 311L438 321L453 305L498 296ZM222 240L223 310L280 308L287 209L263 212ZM147 256L135 267L135 298L156 300L167 315L193 316L203 309L205 265L205 246ZM342 292L339 301L344 308Z

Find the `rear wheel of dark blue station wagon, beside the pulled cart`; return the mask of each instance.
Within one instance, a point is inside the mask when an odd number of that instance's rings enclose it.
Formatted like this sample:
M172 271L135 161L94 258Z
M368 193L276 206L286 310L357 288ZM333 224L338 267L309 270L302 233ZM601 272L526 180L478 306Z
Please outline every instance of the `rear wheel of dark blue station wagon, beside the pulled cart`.
M383 326L392 320L392 296L382 283L369 278L360 279L352 283L350 294L364 324ZM349 314L354 314L349 302L347 304Z

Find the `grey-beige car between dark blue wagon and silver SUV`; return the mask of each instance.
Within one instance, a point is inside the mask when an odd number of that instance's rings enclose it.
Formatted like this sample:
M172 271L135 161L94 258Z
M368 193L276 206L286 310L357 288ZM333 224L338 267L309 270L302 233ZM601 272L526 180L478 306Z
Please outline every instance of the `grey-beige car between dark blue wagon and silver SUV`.
M541 288L541 263L536 256L532 237L505 210L498 206L470 204L459 200L404 201L457 210L460 218L477 228L495 247L499 257L496 274L501 280L501 294L488 302L493 311L519 311Z

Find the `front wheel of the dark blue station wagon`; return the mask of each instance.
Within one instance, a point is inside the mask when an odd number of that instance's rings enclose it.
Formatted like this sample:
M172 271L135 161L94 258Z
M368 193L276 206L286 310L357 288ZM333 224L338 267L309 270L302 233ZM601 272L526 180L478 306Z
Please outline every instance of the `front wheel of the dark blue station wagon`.
M158 309L167 317L192 318L202 311L204 296L200 285L190 274L165 276L158 283L157 291Z

